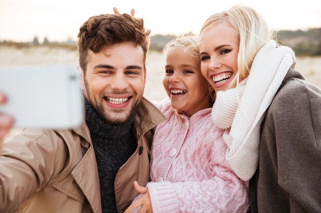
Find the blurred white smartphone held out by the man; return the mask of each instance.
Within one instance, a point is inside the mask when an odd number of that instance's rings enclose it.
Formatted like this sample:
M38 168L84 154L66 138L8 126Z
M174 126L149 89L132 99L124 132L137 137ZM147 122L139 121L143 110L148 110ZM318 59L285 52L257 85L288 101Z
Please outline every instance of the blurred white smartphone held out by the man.
M84 118L83 91L74 65L0 67L0 112L14 127L72 128Z

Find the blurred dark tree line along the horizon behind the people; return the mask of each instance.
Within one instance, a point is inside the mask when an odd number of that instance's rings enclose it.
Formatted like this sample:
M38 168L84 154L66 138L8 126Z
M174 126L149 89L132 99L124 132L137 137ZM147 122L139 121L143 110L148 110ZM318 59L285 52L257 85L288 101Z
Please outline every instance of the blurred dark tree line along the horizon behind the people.
M154 35L151 36L150 50L162 52L164 46L175 35ZM276 34L277 41L286 46L290 46L294 50L296 56L321 56L321 28L309 29L307 31L297 30L289 31L282 30ZM37 36L34 36L30 42L14 42L0 41L0 45L13 45L16 48L23 48L34 45L47 45L68 48L70 50L77 49L77 41L72 37L68 37L64 42L50 41L47 37L41 42Z

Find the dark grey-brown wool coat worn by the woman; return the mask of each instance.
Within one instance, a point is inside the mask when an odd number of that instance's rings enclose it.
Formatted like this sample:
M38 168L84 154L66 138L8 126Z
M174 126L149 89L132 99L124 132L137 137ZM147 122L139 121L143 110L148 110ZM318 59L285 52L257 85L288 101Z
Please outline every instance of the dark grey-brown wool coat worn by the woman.
M321 212L321 90L290 69L262 125L251 212Z

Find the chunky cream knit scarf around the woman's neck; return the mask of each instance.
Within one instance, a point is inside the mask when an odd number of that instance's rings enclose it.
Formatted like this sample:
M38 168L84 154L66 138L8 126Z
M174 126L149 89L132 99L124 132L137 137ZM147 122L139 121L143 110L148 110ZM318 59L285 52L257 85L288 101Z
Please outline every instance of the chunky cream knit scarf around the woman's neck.
M293 51L271 40L256 54L250 75L236 88L218 91L212 110L216 126L226 129L226 158L234 172L249 180L256 171L260 124L289 68Z

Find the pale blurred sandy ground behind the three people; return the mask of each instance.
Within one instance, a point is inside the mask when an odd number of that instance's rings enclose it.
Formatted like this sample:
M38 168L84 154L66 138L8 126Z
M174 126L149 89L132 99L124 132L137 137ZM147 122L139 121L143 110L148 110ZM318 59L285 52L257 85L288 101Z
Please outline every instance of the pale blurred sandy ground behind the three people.
M34 46L17 49L13 46L0 46L0 67L13 65L44 65L78 63L78 53L75 50ZM167 97L163 88L165 75L165 57L162 53L150 51L147 57L147 79L144 96L149 100L160 101ZM297 58L295 68L306 80L321 88L321 57ZM14 129L8 138L19 132ZM8 139L7 138L7 139Z

